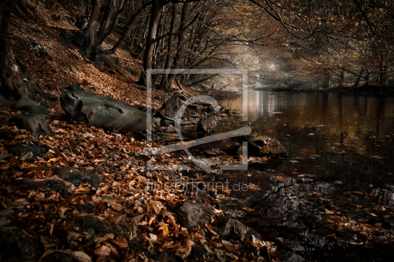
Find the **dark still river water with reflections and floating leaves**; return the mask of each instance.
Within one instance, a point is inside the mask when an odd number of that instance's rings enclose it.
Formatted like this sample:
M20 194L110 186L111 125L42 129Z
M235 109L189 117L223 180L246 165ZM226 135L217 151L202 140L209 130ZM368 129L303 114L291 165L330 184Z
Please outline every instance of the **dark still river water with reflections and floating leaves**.
M277 245L279 261L387 261L394 255L394 98L249 92L254 135L287 157L223 172L246 183L229 206ZM242 98L219 101L241 109ZM233 117L219 132L246 123ZM252 163L253 161L251 161ZM223 201L229 200L223 196ZM246 202L246 203L245 203ZM251 209L241 209L242 207ZM326 210L327 209L327 210Z

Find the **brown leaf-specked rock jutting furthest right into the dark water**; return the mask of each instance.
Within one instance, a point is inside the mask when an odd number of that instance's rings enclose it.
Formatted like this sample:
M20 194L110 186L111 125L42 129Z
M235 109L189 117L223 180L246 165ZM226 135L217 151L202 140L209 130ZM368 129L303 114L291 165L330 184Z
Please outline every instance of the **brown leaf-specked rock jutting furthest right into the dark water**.
M281 155L287 154L287 151L276 139L258 136L249 139L248 154L256 156L266 154Z

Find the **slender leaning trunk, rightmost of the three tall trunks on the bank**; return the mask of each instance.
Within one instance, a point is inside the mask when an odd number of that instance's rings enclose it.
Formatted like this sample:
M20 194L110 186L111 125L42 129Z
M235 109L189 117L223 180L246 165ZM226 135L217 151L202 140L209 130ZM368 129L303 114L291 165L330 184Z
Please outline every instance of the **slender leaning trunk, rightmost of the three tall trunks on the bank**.
M182 8L182 16L181 16L181 25L179 27L180 30L182 30L185 25L186 25L186 20L188 18L189 14L189 2L183 3L183 8ZM175 55L174 62L172 65L173 69L178 69L180 65L182 64L182 57L185 49L185 32L184 30L179 36L178 36L178 44L177 44L177 50L178 52ZM165 92L169 92L171 89L172 82L174 82L176 77L176 74L170 74L168 75L167 80L165 81L163 85L163 90Z

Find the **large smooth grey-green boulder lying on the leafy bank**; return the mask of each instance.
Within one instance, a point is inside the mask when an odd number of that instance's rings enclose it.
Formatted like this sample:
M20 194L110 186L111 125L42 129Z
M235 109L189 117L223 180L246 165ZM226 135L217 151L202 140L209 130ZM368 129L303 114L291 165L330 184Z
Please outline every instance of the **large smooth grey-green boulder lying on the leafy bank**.
M146 129L146 112L112 97L77 90L61 94L60 102L66 114L78 121L134 132Z

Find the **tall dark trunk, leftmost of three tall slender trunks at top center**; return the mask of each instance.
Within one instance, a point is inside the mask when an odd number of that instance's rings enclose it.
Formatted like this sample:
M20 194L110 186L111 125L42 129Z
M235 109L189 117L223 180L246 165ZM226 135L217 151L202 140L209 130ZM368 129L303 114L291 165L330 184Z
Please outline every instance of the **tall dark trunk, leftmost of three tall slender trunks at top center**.
M151 7L151 18L149 21L148 38L145 45L143 72L139 78L138 84L146 87L146 71L152 69L152 54L156 38L157 26L160 18L161 1L153 0Z

